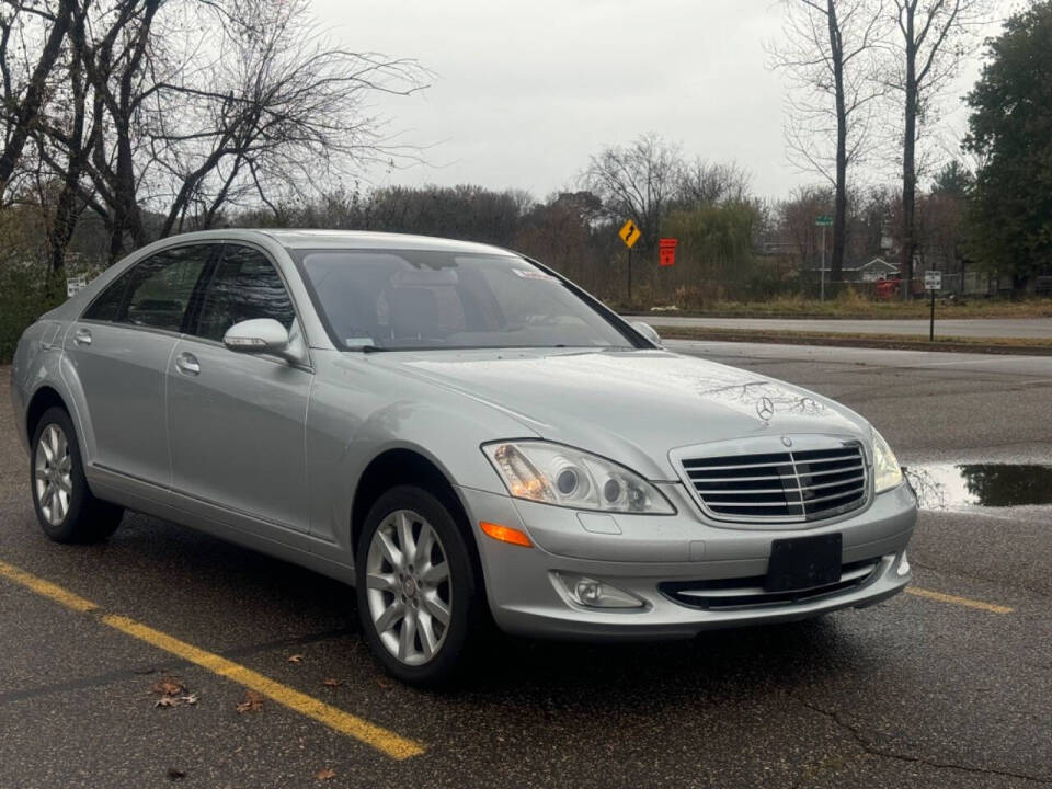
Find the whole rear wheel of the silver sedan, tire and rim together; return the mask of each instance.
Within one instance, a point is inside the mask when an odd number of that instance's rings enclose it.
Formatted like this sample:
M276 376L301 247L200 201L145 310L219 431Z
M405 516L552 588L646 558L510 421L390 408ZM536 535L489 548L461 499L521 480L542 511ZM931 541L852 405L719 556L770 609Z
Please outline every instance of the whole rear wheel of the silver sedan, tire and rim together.
M32 447L30 487L44 534L56 542L98 542L112 535L124 511L88 489L77 433L65 409L44 412Z

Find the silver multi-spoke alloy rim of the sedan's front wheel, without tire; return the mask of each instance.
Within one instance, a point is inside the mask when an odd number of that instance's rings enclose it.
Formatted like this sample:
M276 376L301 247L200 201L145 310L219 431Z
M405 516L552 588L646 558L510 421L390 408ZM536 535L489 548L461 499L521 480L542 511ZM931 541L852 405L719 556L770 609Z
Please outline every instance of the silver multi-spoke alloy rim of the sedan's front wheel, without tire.
M449 628L449 562L438 534L419 513L397 510L373 533L366 598L384 647L407 665L437 654Z

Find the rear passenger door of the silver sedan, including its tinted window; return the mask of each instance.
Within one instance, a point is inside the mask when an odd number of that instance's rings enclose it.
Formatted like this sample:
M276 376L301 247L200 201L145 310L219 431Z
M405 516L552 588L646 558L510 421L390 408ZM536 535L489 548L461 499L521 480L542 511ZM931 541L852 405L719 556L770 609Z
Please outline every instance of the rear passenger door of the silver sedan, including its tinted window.
M65 351L88 405L90 462L168 488L165 373L216 244L168 249L136 263L88 307Z

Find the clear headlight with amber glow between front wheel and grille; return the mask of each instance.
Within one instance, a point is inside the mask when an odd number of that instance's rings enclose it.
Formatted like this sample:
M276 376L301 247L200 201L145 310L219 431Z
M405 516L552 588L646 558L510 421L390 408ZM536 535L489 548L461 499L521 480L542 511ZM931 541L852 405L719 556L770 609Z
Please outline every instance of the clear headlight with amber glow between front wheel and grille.
M604 512L674 515L650 482L610 460L539 441L487 444L482 451L516 499Z

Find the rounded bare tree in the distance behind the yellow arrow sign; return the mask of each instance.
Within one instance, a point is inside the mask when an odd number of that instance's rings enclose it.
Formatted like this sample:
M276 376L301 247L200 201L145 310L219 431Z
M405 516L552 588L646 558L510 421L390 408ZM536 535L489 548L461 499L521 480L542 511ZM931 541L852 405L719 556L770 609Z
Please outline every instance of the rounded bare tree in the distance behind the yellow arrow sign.
M626 147L606 148L592 157L582 185L598 195L613 219L636 222L643 249L653 249L682 171L679 147L645 134Z

